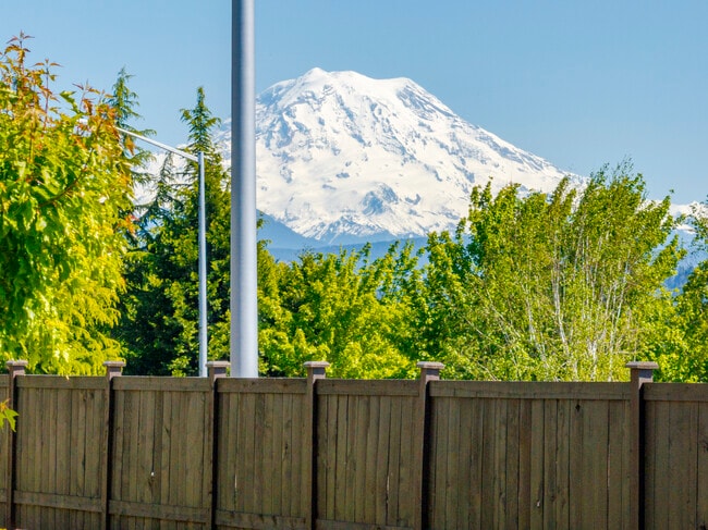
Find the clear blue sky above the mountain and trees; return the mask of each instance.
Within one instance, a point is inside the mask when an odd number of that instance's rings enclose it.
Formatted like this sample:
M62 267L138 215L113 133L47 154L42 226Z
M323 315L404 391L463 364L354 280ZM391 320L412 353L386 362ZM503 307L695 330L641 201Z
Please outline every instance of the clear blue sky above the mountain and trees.
M185 140L204 86L230 114L231 1L3 1L57 88L134 75L144 121ZM410 77L467 121L579 174L631 158L650 197L708 197L704 0L256 0L260 91L319 66Z

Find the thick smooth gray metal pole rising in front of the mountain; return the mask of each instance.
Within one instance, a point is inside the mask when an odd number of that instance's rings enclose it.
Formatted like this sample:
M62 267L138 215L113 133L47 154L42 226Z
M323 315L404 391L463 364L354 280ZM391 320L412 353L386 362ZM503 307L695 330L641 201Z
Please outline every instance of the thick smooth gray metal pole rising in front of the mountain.
M254 0L233 0L231 32L231 375L257 378Z

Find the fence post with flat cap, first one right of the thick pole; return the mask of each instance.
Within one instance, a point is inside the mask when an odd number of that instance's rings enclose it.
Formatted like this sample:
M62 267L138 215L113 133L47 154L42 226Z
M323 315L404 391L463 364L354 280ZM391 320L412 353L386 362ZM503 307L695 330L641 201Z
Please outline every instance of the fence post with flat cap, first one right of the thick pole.
M303 426L305 432L309 432L309 451L305 451L305 469L309 470L307 485L303 494L305 498L309 498L309 509L305 516L305 528L314 530L317 522L317 403L315 397L315 383L318 379L327 377L327 367L329 362L326 360L308 360L303 365L307 370L307 393L305 395L305 410L303 411Z

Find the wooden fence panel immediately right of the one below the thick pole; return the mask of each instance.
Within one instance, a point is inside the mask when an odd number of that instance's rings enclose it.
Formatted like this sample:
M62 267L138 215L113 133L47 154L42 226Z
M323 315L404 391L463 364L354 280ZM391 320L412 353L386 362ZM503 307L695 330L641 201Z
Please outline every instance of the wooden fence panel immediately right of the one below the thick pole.
M320 380L316 393L316 528L413 528L417 382Z

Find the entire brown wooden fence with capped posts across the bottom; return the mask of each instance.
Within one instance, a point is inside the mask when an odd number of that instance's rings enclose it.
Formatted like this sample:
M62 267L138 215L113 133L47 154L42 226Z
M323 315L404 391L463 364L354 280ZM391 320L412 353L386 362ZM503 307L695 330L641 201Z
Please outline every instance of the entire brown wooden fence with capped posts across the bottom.
M708 385L0 375L26 529L708 527ZM4 390L3 390L4 389Z

